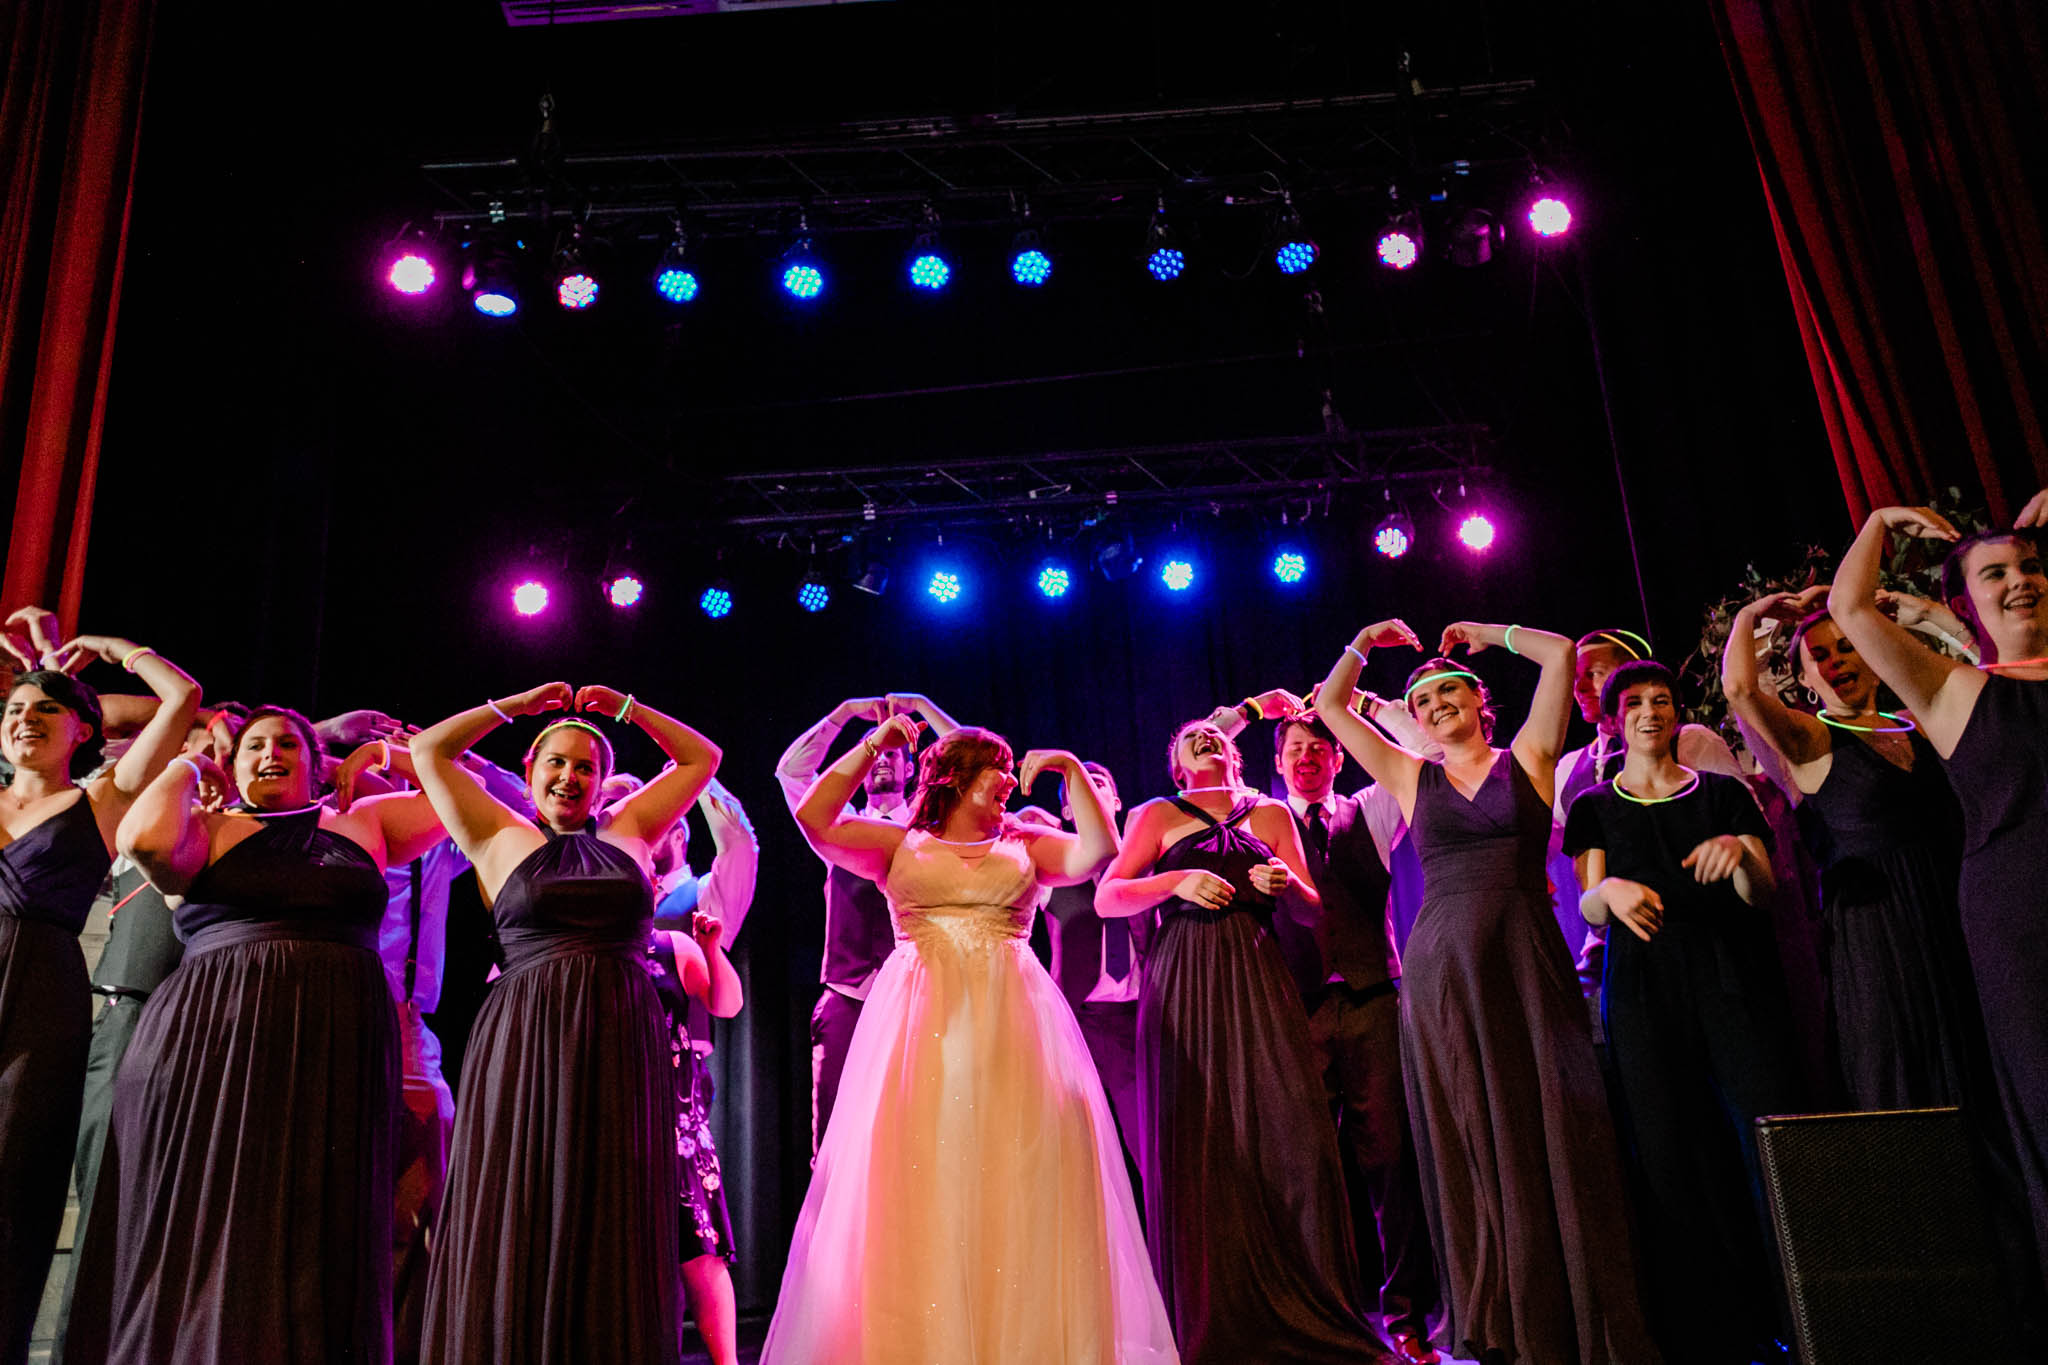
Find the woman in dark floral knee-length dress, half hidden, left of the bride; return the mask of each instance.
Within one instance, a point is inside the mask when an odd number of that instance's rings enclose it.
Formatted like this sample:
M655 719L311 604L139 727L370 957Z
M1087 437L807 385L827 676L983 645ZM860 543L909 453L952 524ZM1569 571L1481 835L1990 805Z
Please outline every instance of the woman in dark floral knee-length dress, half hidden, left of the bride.
M705 911L690 915L688 933L655 929L647 941L647 972L662 997L676 1087L676 1252L682 1285L711 1365L737 1365L731 1263L739 1252L725 1207L725 1173L711 1138L711 1068L690 1038L692 1005L711 1019L739 1013L739 974L719 945L723 933L719 917Z

